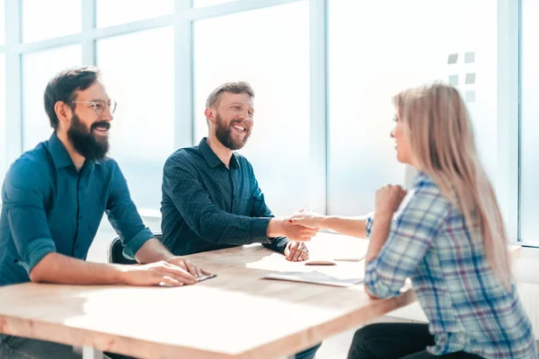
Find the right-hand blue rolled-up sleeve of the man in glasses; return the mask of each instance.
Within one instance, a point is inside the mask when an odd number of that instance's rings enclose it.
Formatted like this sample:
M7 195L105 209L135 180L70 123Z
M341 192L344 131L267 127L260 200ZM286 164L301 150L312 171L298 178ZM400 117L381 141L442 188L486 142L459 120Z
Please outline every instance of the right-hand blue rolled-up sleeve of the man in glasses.
M144 225L142 218L138 215L137 206L129 194L128 182L120 171L118 163L113 162L113 169L114 178L107 202L107 216L124 245L124 255L134 259L137 251L146 241L153 238L154 234Z

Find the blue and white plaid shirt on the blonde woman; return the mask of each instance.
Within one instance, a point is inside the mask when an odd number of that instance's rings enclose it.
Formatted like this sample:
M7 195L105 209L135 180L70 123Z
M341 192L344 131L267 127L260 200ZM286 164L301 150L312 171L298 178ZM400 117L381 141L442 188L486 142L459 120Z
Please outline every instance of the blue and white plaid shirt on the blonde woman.
M367 219L370 237L374 218ZM465 351L485 358L537 359L530 320L516 285L507 290L490 269L482 241L424 172L393 217L365 285L380 298L400 294L407 277L429 318L433 355Z

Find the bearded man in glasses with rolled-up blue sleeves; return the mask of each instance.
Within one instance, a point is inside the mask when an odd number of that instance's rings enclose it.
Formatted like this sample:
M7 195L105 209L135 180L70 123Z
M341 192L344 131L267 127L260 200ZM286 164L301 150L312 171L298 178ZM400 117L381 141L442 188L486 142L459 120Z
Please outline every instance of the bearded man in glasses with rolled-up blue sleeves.
M13 163L2 189L0 285L190 285L204 271L143 224L118 163L107 158L116 102L99 71L66 70L45 91L54 133ZM84 261L103 213L142 266ZM205 273L205 272L204 272ZM0 357L80 357L70 346L0 335Z

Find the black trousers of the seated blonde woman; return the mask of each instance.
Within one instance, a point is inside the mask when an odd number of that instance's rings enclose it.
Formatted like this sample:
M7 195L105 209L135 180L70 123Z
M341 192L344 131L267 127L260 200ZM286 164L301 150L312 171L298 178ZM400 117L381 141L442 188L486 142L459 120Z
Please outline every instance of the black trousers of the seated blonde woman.
M479 355L456 352L431 355L427 346L434 345L434 337L427 324L378 323L360 328L354 335L349 359L481 359Z

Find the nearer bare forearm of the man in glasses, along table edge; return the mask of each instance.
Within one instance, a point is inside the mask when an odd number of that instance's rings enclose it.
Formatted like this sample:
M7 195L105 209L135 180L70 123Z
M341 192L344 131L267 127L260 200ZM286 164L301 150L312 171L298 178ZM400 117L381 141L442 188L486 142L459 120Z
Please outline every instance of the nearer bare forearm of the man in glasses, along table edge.
M58 285L120 285L125 284L123 267L49 253L31 269L30 278Z

